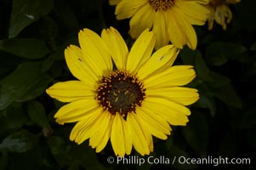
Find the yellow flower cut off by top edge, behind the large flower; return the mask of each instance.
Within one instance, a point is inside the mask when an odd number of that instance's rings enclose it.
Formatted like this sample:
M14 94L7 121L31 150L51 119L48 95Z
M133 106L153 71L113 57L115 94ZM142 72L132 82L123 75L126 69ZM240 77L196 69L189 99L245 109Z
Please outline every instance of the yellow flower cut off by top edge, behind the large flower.
M177 48L187 44L195 49L196 31L208 19L208 0L110 0L117 4L117 20L130 20L131 37L139 37L146 28L156 34L156 49L172 42Z

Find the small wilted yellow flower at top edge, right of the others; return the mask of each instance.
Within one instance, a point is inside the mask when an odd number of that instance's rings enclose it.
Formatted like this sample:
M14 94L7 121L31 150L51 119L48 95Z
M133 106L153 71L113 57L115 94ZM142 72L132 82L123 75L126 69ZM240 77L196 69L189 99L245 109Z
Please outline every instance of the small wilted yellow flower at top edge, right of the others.
M226 24L229 24L232 20L232 13L228 4L239 2L240 0L210 0L210 3L208 4L210 10L208 16L208 30L213 29L214 20L226 30Z

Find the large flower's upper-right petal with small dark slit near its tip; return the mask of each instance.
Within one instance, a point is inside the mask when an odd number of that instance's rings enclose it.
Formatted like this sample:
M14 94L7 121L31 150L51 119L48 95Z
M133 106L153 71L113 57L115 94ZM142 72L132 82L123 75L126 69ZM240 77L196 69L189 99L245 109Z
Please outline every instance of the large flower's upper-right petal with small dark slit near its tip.
M168 45L158 49L150 59L141 66L138 71L138 77L144 80L146 77L152 77L159 72L165 71L173 65L178 55L177 48L174 45Z

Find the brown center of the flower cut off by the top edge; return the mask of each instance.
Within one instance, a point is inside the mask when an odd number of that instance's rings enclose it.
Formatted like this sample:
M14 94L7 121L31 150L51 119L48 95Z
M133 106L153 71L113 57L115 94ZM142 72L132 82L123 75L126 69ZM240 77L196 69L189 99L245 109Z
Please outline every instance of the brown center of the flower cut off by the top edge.
M149 3L155 11L167 11L169 8L174 6L175 0L149 0Z

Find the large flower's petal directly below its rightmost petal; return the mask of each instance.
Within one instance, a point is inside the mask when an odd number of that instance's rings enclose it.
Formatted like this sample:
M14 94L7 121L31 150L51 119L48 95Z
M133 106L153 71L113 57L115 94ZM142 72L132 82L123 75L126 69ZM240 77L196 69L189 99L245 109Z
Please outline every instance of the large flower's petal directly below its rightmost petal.
M162 116L171 125L186 125L186 122L188 122L187 116L191 114L191 111L185 106L162 98L148 97L143 101L142 107L156 113L158 116Z

